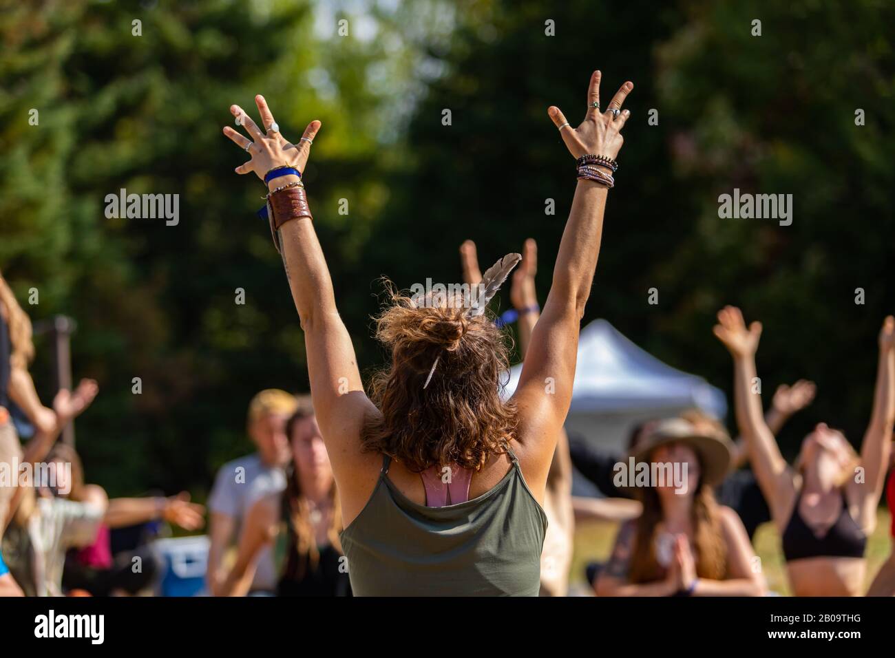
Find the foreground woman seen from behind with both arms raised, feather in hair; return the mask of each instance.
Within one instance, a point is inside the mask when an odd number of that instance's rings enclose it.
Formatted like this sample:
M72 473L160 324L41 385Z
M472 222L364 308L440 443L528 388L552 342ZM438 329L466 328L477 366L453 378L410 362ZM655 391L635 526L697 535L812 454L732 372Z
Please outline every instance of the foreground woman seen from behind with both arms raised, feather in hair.
M340 538L354 594L540 592L547 525L541 504L571 400L578 332L620 130L630 115L621 105L634 88L626 82L601 110L600 80L594 72L577 128L557 107L548 109L573 158L588 158L578 162L550 295L508 403L499 397L508 367L505 337L484 312L521 257L508 254L486 270L482 295L472 304L456 296L393 295L377 321L392 363L367 397L302 180L287 170L303 170L320 122L311 122L293 144L279 132L263 97L255 102L265 132L241 107L231 106L251 135L224 129L251 155L236 172L258 175L270 190L270 230L304 331L314 409L345 518ZM548 377L555 381L550 394L544 388Z

